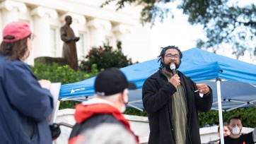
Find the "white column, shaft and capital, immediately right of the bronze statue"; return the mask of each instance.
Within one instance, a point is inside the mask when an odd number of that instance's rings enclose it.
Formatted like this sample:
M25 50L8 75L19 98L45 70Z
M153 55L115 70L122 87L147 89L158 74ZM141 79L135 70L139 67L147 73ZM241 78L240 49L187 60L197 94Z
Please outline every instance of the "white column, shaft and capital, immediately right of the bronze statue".
M110 21L93 19L88 22L91 33L91 46L100 46L105 42L105 30L111 30Z

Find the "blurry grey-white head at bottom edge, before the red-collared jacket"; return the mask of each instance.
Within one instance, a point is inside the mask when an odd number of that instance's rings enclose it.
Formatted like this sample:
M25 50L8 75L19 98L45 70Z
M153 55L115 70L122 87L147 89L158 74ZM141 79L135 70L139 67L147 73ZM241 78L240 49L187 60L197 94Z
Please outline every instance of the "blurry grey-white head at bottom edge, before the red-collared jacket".
M76 144L136 144L132 133L120 124L103 123L82 133L86 139Z

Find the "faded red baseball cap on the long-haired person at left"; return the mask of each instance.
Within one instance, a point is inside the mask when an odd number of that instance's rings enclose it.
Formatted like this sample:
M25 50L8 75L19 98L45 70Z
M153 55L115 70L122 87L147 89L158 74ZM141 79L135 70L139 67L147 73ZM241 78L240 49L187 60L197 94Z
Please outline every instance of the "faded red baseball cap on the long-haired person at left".
M35 34L33 32L31 32L29 25L27 23L24 23L21 21L8 23L3 30L3 41L4 42L15 42L17 40L23 39L24 37L27 37L30 34L35 36ZM4 37L6 37L6 35L11 35L14 37L14 39L12 39L12 40L4 39Z

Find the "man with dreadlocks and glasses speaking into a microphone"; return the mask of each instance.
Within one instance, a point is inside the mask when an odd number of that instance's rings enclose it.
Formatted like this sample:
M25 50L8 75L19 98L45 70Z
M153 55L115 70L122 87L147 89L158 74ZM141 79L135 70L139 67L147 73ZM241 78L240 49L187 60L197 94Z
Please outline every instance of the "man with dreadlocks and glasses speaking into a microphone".
M180 71L180 49L163 47L158 56L159 70L146 79L142 88L144 109L149 117L149 144L199 144L197 111L209 112L212 91L204 83L196 84ZM173 69L173 68L172 68Z

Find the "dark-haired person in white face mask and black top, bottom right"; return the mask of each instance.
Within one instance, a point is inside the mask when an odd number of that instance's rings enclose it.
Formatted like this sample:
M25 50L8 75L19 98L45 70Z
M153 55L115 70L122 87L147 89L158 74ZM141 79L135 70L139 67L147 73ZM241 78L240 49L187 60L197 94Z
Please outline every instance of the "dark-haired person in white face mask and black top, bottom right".
M228 121L231 134L224 137L225 144L253 144L256 143L256 128L250 133L242 134L242 121L240 117L235 116Z

